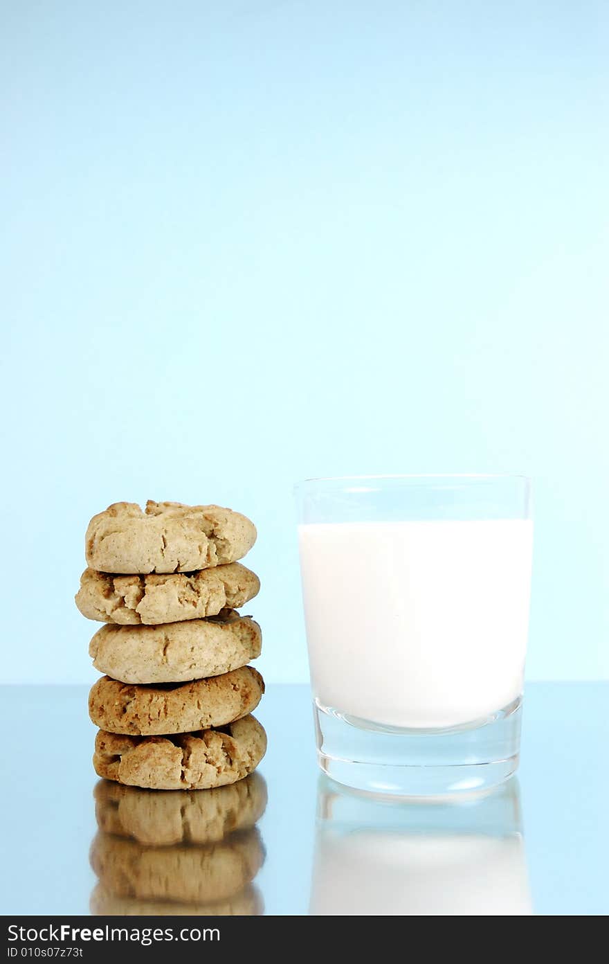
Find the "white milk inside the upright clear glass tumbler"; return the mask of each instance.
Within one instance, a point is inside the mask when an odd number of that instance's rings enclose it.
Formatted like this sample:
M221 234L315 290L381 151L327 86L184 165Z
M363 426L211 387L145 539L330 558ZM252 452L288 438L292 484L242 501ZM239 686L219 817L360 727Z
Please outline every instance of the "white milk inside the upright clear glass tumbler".
M533 523L299 526L314 695L397 727L451 727L522 689Z

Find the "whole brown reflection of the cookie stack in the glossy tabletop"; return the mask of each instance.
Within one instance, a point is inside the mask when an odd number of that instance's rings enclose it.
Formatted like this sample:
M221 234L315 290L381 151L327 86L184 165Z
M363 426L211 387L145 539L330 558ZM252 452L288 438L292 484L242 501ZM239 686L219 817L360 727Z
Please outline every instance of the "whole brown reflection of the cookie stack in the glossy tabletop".
M93 914L262 913L252 886L264 861L254 825L267 800L259 774L215 790L139 790L100 780L94 795Z

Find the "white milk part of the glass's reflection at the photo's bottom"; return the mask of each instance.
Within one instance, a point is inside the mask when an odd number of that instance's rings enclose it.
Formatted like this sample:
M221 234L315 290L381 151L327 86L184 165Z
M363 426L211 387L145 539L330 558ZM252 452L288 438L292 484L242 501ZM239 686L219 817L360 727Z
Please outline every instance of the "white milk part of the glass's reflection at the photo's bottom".
M519 834L318 832L311 915L532 913Z

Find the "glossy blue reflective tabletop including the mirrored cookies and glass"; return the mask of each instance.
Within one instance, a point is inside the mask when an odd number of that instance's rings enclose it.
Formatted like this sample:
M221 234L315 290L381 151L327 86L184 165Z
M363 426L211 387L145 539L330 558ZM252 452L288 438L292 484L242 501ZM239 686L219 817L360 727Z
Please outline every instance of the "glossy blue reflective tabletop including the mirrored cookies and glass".
M308 689L288 685L255 713L259 777L119 788L93 772L87 693L2 687L5 915L609 912L608 684L528 685L517 778L457 804L331 784Z

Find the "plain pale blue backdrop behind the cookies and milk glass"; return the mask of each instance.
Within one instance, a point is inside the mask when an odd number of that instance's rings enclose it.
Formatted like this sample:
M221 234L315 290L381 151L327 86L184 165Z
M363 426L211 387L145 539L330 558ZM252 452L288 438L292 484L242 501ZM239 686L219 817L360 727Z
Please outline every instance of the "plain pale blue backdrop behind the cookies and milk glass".
M529 676L609 675L603 2L3 3L2 679L86 682L94 512L523 471Z

